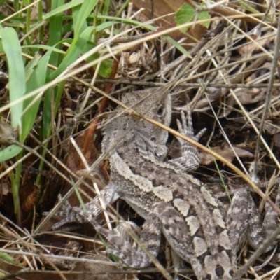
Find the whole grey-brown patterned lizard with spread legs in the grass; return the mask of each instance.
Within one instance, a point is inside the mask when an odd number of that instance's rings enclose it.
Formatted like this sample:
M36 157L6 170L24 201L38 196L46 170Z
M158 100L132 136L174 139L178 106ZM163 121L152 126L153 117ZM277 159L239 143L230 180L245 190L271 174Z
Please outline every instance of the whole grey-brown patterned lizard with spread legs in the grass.
M128 92L123 95L122 102L162 125L170 125L172 102L167 91L150 88ZM108 153L111 162L111 181L100 192L104 204L121 198L145 218L140 241L152 255L158 255L163 233L174 251L193 267L197 279L232 279L237 251L244 238L248 236L255 247L265 238L261 225L257 232L248 230L255 227L253 200L246 191L240 191L234 197L227 219L221 202L207 186L186 173L200 165L197 148L179 139L181 158L163 162L168 133L123 111L118 106L104 129L102 152ZM183 112L181 118L182 123L177 120L179 131L198 141L204 130L197 135L193 133L190 111L188 122ZM73 221L89 221L116 247L111 253L118 255L128 266L148 266L151 259L142 248L132 248L118 231L107 230L95 221L102 211L98 204L98 197L85 204L86 214L81 207L72 208L66 202L62 211L57 213L64 220L52 229ZM246 211L248 208L251 211ZM252 222L247 226L250 218ZM272 218L276 220L275 214Z

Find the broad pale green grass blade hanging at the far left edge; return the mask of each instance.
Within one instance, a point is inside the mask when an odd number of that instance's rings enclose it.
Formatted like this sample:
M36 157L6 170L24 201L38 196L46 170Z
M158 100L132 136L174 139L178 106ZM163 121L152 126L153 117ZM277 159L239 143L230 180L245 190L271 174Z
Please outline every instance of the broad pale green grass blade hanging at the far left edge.
M17 102L10 108L12 127L21 127L23 102L20 99L25 94L25 66L22 59L22 49L18 34L13 28L0 30L2 47L8 62L10 102Z

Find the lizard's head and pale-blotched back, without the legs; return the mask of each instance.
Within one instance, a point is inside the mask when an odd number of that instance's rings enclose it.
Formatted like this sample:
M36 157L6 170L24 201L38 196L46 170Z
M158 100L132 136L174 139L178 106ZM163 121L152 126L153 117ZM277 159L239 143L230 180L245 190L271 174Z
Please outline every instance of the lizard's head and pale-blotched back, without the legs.
M122 101L169 126L169 94L143 90L125 94ZM116 191L140 216L158 216L169 244L191 263L198 279L232 279L234 260L218 200L193 176L160 161L167 151L165 130L133 116L116 118L123 110L118 107L111 116L102 144L107 151L111 139L121 139L110 156Z

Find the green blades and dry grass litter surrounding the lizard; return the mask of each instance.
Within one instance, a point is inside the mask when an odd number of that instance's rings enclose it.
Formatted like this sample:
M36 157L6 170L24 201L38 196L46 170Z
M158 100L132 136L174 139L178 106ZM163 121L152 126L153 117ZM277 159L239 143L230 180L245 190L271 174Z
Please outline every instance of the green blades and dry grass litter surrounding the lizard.
M81 230L86 239L42 234L54 211L42 214L59 193L67 193L72 205L83 204L94 197L92 181L100 188L108 183L108 162L99 158L101 129L122 92L165 86L174 92L174 120L186 104L194 109L195 127L207 127L202 142L211 147L202 153L202 181L235 169L256 188L247 176L251 170L251 178L262 181L279 170L277 7L265 1L184 2L166 11L168 1L157 0L151 11L146 1L147 13L129 0L0 0L0 279L25 275L20 269L27 267L28 279L38 279L39 272L49 277L44 269L72 279L59 272L69 267L123 279L117 263L90 253L96 246L104 250L99 239L89 238L92 228ZM209 155L215 151L216 163ZM169 156L176 157L176 148ZM265 190L256 191L265 197ZM127 208L120 202L119 214L141 225ZM66 255L71 265L51 253ZM83 262L71 259L79 254ZM160 271L143 274L174 273L162 258ZM269 279L276 273L273 264L260 272Z

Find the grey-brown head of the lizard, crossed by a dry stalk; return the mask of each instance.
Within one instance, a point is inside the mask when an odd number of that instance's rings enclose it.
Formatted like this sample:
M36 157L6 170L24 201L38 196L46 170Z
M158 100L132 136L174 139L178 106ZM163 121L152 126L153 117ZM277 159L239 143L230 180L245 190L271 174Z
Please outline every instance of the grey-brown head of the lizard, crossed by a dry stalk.
M146 90L127 92L123 94L123 104L137 111L141 116L146 116L169 127L172 117L172 102L169 92L160 87L152 87ZM122 113L123 112L123 113ZM135 137L141 141L141 146L159 157L166 152L168 132L162 127L136 116L125 113L125 109L118 106L116 111L109 117L109 124L105 126L103 151L113 145L113 141L123 137L124 141L130 143ZM143 141L144 140L144 141Z

